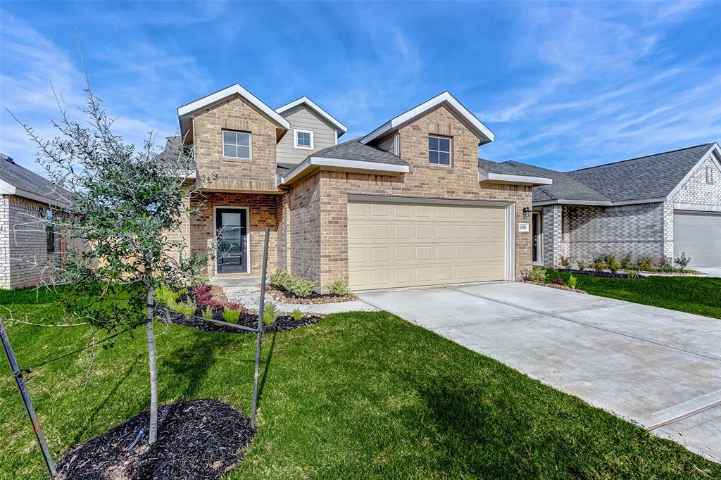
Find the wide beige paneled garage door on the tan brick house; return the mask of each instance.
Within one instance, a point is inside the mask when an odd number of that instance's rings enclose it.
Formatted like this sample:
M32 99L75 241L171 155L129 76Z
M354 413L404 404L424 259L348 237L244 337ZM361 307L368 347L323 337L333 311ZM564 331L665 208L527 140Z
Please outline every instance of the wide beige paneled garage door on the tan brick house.
M505 209L348 203L355 290L505 279Z

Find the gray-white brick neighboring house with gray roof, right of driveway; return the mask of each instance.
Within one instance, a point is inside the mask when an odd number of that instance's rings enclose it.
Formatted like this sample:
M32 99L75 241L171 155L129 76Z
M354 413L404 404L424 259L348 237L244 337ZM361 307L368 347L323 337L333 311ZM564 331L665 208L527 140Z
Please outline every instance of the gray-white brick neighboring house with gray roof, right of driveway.
M691 257L690 267L721 266L721 149L718 143L555 172L481 161L489 172L553 179L534 188L533 260L590 262L631 252Z

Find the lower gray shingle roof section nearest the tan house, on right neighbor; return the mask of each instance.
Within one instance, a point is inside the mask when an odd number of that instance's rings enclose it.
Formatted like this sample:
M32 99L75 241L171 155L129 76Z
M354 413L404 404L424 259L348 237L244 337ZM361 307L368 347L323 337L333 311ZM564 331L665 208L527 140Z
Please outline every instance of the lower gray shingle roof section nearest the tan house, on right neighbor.
M609 202L609 198L593 188L583 185L578 180L563 172L556 172L541 168L540 166L523 164L520 161L495 161L478 159L478 166L487 172L509 175L528 175L531 177L546 177L553 180L553 185L534 187L534 202L548 200L573 199L587 202Z

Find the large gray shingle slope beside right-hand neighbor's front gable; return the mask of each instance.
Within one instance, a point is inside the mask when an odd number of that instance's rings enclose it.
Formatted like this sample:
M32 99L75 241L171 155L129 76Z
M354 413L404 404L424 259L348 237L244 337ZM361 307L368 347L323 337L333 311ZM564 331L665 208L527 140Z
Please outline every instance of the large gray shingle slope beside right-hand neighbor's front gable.
M614 202L666 197L713 143L566 172Z

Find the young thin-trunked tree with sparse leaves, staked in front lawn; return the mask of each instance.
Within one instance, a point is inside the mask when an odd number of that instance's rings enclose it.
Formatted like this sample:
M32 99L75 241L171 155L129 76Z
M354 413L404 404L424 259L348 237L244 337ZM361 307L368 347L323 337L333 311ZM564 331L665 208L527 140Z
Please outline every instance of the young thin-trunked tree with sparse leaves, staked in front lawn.
M87 80L87 74L86 74ZM151 408L149 443L157 435L158 387L153 319L154 290L198 282L212 248L185 254L181 227L188 215L194 182L193 152L182 143L161 154L154 137L142 146L125 143L112 133L112 119L87 80L87 117L77 121L58 102L61 120L53 140L38 138L23 125L40 149L40 163L62 189L70 205L56 223L74 243L63 265L54 270L52 285L63 290L66 310L108 330L133 332L145 324L150 365ZM199 205L197 208L200 208ZM197 209L196 208L196 209Z

